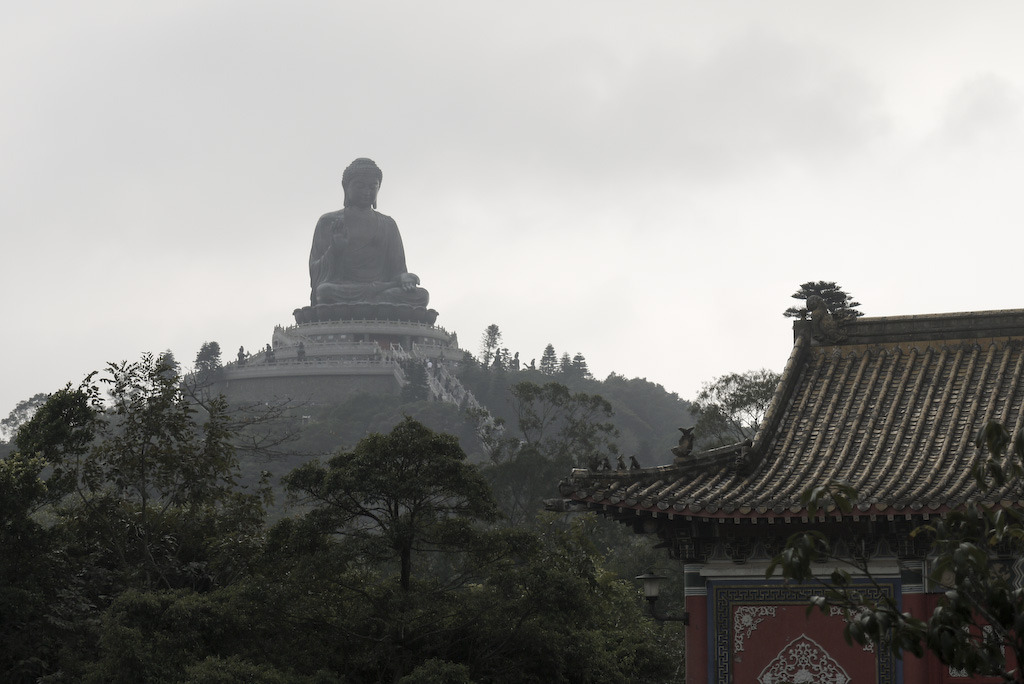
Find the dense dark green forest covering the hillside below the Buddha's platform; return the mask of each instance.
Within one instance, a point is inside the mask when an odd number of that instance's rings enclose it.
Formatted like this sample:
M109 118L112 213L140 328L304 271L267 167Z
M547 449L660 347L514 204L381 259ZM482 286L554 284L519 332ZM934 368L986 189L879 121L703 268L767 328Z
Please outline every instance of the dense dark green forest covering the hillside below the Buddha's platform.
M0 679L682 681L681 633L631 580L664 553L544 500L594 460L668 462L690 404L582 354L483 351L472 408L232 407L207 345L188 375L145 356L19 404Z

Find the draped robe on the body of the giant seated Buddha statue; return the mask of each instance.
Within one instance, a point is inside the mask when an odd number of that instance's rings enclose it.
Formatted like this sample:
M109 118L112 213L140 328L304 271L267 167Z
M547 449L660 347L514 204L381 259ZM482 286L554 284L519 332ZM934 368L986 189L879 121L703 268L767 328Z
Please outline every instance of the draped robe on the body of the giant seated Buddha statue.
M406 249L398 225L390 216L372 213L369 236L347 237L345 210L324 214L313 231L309 251L309 301L317 304L391 302L426 306L430 294L417 287L404 290L399 276L408 273ZM346 236L344 246L334 236Z

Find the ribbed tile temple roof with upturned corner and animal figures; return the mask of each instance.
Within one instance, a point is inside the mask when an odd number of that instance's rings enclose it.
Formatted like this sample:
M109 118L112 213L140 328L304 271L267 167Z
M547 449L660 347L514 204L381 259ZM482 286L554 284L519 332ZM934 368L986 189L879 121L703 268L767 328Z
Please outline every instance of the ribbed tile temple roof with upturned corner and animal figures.
M794 348L753 440L677 463L575 469L566 499L673 517L806 515L808 487L844 480L854 515L928 514L979 498L974 437L1024 427L1024 309L794 324ZM987 503L1020 505L1017 482Z

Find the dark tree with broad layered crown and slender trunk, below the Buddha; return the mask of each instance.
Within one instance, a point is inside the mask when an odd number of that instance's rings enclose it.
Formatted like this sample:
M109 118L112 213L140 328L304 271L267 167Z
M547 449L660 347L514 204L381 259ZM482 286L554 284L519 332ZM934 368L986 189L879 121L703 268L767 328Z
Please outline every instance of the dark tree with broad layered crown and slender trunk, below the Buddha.
M286 484L309 507L299 527L346 559L337 587L353 648L339 665L346 678L397 681L475 618L452 592L466 581L460 559L501 555L505 545L490 542L490 489L454 437L407 419L299 467Z

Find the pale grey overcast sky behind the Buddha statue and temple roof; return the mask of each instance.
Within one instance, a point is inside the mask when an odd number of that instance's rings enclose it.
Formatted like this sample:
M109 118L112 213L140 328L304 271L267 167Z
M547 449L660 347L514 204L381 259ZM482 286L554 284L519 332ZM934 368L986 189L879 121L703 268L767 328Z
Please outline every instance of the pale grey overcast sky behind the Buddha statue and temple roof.
M23 2L0 22L0 416L308 303L371 157L438 325L691 398L809 280L1024 307L1020 2Z

